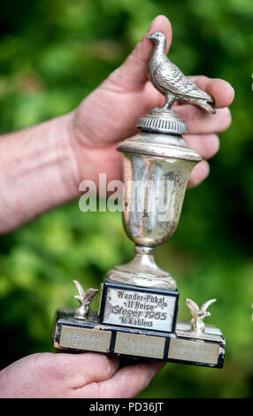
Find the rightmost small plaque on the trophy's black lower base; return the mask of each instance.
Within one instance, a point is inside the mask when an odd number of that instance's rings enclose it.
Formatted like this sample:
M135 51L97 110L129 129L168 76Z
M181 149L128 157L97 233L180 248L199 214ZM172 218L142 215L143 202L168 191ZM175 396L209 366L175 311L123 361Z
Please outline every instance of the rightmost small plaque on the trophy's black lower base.
M204 364L217 364L219 344L182 340L179 338L171 339L168 358Z

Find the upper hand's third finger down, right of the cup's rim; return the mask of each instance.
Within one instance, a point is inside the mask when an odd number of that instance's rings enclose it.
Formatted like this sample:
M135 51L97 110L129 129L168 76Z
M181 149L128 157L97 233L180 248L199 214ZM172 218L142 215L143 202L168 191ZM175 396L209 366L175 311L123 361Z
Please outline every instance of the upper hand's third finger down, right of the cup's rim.
M215 134L186 135L184 139L188 146L195 149L204 159L211 158L219 150L219 137Z

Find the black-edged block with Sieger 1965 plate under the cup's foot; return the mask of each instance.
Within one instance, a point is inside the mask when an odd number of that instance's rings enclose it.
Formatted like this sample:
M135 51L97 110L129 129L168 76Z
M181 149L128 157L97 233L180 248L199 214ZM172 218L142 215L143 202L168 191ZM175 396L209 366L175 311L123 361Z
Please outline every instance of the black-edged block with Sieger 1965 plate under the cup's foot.
M98 320L115 327L174 332L179 292L104 281Z

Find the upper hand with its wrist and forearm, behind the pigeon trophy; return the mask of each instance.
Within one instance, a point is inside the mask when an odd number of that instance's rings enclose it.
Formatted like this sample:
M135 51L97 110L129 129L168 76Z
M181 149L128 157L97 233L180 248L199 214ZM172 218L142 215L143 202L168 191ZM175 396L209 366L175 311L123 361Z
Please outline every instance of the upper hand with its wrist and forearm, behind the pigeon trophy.
M94 181L98 189L99 173L106 173L107 182L121 179L117 144L137 133L137 119L164 104L164 96L147 78L153 46L147 36L155 31L165 34L168 50L171 25L165 16L157 16L126 61L77 109L1 135L0 233L10 232L42 212L80 196L83 180ZM214 98L217 112L213 115L190 104L173 106L188 124L186 142L203 157L191 172L189 186L197 185L208 175L206 159L219 149L217 133L229 126L227 105L234 99L234 89L226 81L205 76L196 76L194 81Z

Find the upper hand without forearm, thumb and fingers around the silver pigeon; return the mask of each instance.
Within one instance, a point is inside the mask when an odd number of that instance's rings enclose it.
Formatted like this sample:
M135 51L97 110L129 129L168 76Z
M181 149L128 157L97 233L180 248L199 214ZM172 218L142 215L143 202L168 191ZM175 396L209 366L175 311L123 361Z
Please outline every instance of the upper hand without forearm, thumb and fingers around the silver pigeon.
M147 36L156 31L165 34L169 50L172 42L170 22L165 16L157 16L147 35L143 36L126 61L71 113L69 131L79 181L89 179L97 184L99 173L106 173L107 181L120 179L120 154L115 150L117 143L136 133L134 125L144 113L164 104L164 96L154 89L147 78L147 64L153 46ZM195 105L178 103L173 106L188 124L186 142L203 158L190 175L189 186L195 186L209 173L206 159L219 150L217 133L230 125L231 115L227 105L234 99L234 89L228 82L219 79L211 80L205 76L191 79L214 98L217 108L213 115Z

